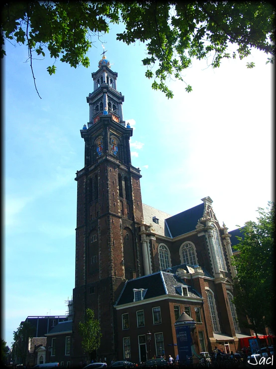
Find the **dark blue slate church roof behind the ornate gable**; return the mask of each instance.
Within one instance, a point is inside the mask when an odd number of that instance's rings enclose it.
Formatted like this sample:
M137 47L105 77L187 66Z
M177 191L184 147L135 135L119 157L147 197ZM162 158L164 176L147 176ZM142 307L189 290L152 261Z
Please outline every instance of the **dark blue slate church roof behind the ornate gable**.
M165 219L165 223L168 227L167 230L165 229L165 236L177 237L195 230L195 226L198 220L203 216L203 212L204 203Z

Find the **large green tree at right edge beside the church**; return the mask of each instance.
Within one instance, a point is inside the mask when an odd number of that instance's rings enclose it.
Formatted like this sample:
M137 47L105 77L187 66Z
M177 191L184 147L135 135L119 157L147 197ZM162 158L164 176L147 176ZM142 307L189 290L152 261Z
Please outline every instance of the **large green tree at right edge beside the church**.
M275 203L258 209L257 222L247 222L241 229L243 237L234 246L237 277L234 283L235 306L249 318L248 327L257 335L275 322Z

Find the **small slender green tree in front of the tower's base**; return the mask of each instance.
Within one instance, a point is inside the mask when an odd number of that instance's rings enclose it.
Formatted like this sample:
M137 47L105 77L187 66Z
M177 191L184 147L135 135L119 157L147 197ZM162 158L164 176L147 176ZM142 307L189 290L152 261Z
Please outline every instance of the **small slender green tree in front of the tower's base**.
M100 323L95 319L94 311L86 309L85 322L79 323L79 331L82 336L82 348L89 355L100 346L102 334Z

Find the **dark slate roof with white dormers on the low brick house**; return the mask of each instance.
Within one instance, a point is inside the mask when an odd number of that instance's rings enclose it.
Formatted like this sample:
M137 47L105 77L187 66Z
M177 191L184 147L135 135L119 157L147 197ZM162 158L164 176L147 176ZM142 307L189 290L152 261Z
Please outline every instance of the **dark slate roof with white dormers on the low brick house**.
M133 289L147 290L143 300L168 294L180 296L175 290L175 286L180 286L183 284L183 281L175 274L166 273L163 271L138 277L126 282L123 291L121 292L121 295L115 305L119 306L134 302ZM188 294L190 297L201 298L201 295L189 286Z

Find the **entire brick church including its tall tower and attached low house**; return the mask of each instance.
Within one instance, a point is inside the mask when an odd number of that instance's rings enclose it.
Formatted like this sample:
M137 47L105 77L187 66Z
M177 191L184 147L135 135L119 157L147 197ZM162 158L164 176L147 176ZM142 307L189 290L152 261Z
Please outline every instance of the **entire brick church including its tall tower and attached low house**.
M210 197L174 216L142 204L140 170L131 164L133 129L123 118L117 77L104 55L92 73L89 122L81 130L85 165L75 178L72 362L84 357L78 324L87 308L100 321L98 354L108 363L114 357L148 358L149 330L152 353L161 347L165 355L176 356L178 308L197 322L198 352L215 346L235 351L240 338L251 334L239 326L232 301L231 234L219 224ZM154 320L157 308L161 323ZM139 326L142 316L144 326Z

